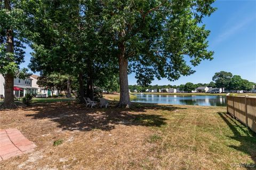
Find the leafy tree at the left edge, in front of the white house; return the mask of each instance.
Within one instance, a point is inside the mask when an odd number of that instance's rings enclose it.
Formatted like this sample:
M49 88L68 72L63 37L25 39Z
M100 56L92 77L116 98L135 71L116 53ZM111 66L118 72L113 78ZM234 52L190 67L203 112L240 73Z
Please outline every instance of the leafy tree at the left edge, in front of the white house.
M24 60L22 42L23 12L19 9L19 1L0 1L0 74L5 79L4 102L2 109L15 108L13 99L13 79L18 76L25 78L27 69L19 70L19 64Z

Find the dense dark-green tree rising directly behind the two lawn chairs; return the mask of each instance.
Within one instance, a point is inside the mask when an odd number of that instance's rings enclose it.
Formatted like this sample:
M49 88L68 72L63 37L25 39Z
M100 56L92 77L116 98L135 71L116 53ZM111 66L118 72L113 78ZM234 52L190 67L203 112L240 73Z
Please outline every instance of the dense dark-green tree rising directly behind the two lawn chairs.
M102 79L116 68L116 58L110 55L111 39L101 35L100 3L45 0L28 4L40 9L28 10L29 24L34 23L30 29L35 51L31 70L72 74L78 80L80 101L84 94L93 100L94 86L100 87Z

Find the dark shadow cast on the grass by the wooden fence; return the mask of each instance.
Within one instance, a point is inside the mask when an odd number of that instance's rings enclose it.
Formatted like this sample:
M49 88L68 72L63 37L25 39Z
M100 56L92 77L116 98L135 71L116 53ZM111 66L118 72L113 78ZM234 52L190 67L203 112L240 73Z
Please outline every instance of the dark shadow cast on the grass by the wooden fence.
M256 134L242 123L239 123L237 120L230 117L230 115L224 112L218 112L218 114L226 122L234 134L234 136L229 137L241 143L239 146L229 145L229 147L250 155L251 159L254 161L254 163L256 163ZM251 169L253 167L247 168Z

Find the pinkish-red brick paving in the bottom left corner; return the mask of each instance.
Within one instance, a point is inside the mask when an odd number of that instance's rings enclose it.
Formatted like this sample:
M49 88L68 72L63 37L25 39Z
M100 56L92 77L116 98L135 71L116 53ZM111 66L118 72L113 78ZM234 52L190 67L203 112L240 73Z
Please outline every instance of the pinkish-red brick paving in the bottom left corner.
M35 147L36 145L23 136L18 129L0 129L0 161L31 152Z

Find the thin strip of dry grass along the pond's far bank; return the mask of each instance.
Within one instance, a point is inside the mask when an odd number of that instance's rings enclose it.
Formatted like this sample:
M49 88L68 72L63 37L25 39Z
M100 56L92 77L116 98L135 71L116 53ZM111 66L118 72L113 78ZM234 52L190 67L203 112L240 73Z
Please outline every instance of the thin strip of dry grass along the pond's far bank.
M140 93L131 93L131 94L140 94ZM227 93L143 93L143 94L164 94L164 95L227 95ZM236 96L256 96L256 93L231 93L230 95Z

